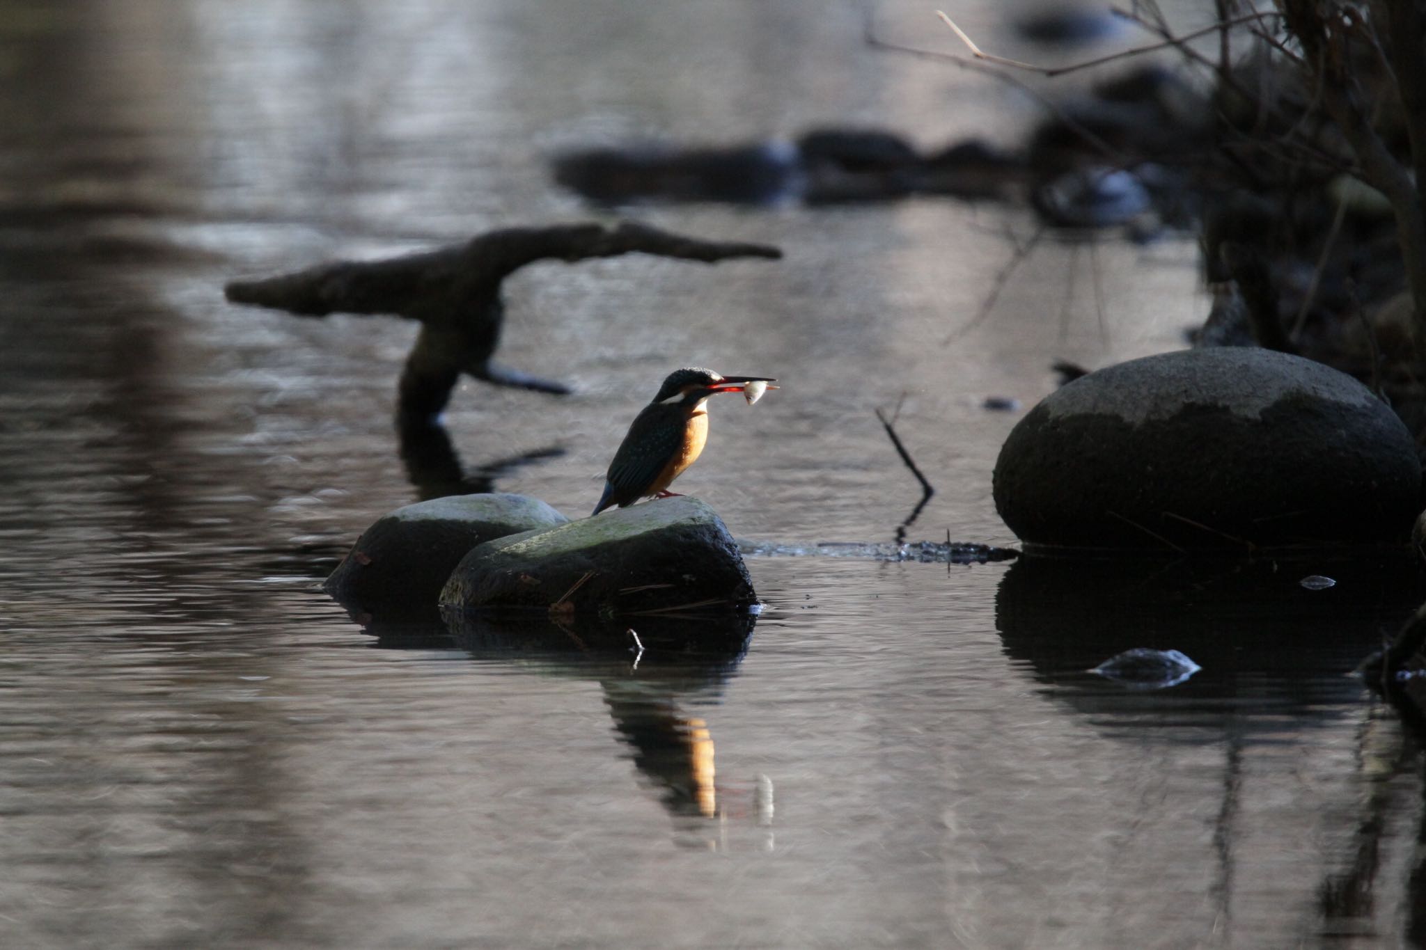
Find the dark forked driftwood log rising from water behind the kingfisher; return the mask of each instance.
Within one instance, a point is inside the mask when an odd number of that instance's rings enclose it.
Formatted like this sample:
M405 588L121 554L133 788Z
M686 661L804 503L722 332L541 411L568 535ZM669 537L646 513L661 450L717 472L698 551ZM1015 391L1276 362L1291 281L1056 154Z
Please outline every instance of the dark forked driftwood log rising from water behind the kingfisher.
M565 395L563 383L492 362L501 342L501 285L536 261L586 261L652 254L717 263L730 258L777 259L766 244L703 241L642 224L505 228L424 254L385 261L338 261L260 281L232 281L224 293L297 316L391 315L421 323L401 373L398 420L419 424L438 416L461 373L498 386Z

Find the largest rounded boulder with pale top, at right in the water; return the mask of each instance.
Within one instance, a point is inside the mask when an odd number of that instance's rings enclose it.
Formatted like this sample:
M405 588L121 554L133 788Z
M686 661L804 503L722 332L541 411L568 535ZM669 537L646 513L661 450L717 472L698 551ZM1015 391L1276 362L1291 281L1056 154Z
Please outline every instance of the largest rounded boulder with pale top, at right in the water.
M1335 369L1255 348L1129 360L1045 397L995 463L1027 553L1406 544L1406 426Z

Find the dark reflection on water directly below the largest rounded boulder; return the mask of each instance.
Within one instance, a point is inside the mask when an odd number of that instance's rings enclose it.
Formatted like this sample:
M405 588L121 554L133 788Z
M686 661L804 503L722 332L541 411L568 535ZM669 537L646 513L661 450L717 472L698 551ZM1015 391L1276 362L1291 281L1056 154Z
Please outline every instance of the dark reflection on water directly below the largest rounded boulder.
M1309 575L1336 581L1308 590ZM1179 694L1242 698L1261 682L1282 699L1323 699L1316 677L1346 674L1420 604L1426 585L1405 555L1353 560L1139 561L1021 558L995 598L1005 652L1081 712L1115 712L1122 688L1088 671L1127 649L1178 649L1202 667ZM1148 702L1152 705L1152 694Z

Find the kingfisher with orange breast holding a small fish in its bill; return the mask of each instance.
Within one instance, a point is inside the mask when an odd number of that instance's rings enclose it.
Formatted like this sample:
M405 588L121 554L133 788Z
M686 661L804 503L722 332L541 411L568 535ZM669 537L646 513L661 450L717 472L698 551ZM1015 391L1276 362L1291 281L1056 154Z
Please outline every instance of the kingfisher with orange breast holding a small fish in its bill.
M777 389L767 386L771 382L770 376L723 376L697 366L669 373L653 402L629 426L590 517L613 504L625 508L639 499L677 494L669 486L693 464L709 437L709 413L703 407L709 396L742 393L756 383L747 395L752 403L763 389Z

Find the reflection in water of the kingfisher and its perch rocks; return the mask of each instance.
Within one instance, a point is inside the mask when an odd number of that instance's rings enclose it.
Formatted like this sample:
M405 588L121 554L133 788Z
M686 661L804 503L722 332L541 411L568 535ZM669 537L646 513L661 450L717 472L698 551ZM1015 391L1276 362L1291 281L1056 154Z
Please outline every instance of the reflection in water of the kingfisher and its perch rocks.
M747 649L754 615L640 617L637 631L600 620L442 615L443 624L385 622L368 625L366 632L384 649L463 649L486 664L597 682L615 731L659 802L680 830L712 843L699 828L703 819L729 812L729 789L714 782L712 724L684 705L720 698ZM759 788L756 798L761 819L770 813L770 795Z

